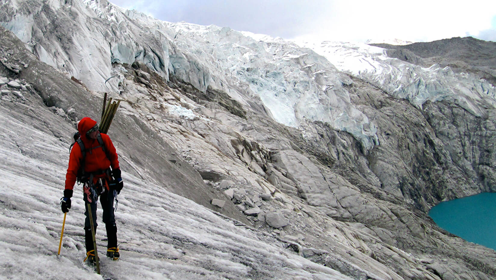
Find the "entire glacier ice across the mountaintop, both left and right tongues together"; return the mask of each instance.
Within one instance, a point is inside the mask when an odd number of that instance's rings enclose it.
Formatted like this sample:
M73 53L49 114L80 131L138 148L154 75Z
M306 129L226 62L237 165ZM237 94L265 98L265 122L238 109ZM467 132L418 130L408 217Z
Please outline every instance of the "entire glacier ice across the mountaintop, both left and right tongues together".
M22 6L21 0L9 3L14 10ZM165 22L105 0L46 3L30 7L30 13L9 13L1 25L28 43L41 61L92 90L118 91L123 75L113 65L139 61L166 79L173 75L203 92L224 91L243 106L259 100L268 117L290 127L327 123L352 134L365 150L378 144L377 128L351 104L348 74L418 108L426 101L453 99L482 116L482 100L496 104L496 90L485 80L388 58L383 49L366 44L292 42L214 25ZM43 15L52 12L58 22L46 22ZM72 20L86 28L64 26ZM40 30L42 24L66 29L64 39L73 44Z

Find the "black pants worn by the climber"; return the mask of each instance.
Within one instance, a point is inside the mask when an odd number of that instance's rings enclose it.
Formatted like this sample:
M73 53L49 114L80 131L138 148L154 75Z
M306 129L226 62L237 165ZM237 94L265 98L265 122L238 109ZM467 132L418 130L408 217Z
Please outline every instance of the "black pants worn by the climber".
M91 216L93 217L93 226L98 226L97 216L96 216L96 208L97 208L97 200L98 196L94 195L91 198L90 207L91 207ZM105 191L102 195L100 195L100 204L103 209L103 222L105 223L105 229L107 230L107 248L117 247L117 226L116 226L116 217L114 215L114 191ZM84 195L84 215L86 216L84 220L84 239L86 243L86 252L94 250L93 246L93 236L91 234L91 223L88 215L88 199L86 194Z

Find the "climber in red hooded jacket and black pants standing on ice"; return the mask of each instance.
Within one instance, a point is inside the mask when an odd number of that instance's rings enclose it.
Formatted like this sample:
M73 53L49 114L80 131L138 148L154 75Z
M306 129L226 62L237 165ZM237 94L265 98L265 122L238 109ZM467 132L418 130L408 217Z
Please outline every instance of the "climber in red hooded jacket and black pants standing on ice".
M69 167L65 175L65 189L61 202L62 212L70 209L70 198L74 183L83 183L83 199L85 202L84 233L86 243L86 261L94 264L95 254L91 224L88 215L88 204L91 206L93 225L97 227L97 200L103 209L103 222L107 230L107 256L118 259L117 226L114 215L114 198L123 188L121 169L116 148L109 136L100 133L98 124L91 118L83 118L77 125L79 139L74 143L69 156ZM77 137L75 137L77 138ZM111 169L112 167L112 169Z

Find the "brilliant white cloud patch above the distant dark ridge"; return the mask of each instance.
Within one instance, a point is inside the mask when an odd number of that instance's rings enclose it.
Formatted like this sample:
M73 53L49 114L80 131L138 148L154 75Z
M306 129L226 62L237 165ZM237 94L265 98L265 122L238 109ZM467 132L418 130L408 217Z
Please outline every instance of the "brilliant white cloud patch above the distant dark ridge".
M457 1L338 1L339 11L327 19L320 36L342 39L401 39L432 41L478 34L490 28L496 13L495 3L479 5L479 0ZM482 9L481 6L485 8Z

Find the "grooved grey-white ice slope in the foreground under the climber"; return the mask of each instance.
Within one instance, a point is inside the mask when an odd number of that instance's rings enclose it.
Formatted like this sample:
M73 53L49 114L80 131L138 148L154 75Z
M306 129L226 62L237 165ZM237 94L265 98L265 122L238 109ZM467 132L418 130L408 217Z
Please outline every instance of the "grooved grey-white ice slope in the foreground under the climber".
M20 94L24 100L39 98ZM70 131L70 125L50 108L42 109L48 114L32 114L23 102L6 97L1 102L1 279L349 279L291 253L271 235L236 226L125 172L116 212L122 259L103 257L102 276L83 265L84 206L78 186L58 256L63 214L56 198L62 196L68 143L55 135L59 129ZM103 254L101 214L97 244Z

